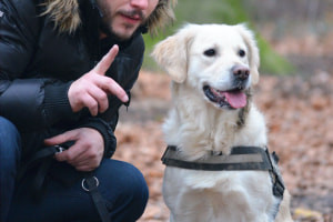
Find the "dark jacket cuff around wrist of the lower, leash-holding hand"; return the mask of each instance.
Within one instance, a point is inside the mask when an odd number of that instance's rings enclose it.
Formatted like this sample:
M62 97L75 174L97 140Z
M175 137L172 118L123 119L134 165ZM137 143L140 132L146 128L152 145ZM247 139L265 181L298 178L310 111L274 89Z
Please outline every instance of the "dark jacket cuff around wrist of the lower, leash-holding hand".
M79 128L92 128L99 131L104 139L104 158L111 158L117 148L117 138L111 127L101 119L90 118L79 125Z

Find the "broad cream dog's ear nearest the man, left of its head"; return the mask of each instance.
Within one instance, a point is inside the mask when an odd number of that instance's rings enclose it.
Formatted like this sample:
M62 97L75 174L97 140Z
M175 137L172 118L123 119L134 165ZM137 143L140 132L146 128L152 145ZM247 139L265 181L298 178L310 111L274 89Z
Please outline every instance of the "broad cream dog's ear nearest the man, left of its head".
M151 56L160 67L165 69L171 79L178 83L185 81L188 75L188 51L193 38L193 24L188 24L175 34L159 42Z

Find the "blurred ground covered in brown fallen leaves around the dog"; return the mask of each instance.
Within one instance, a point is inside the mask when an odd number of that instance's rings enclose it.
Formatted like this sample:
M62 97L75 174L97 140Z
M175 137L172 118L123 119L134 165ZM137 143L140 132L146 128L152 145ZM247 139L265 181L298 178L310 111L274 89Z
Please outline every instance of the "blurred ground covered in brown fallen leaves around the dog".
M274 46L287 54L300 73L261 75L254 100L266 119L270 150L280 157L282 175L292 194L293 219L333 222L332 38L325 47L321 47L322 40L293 41ZM142 71L131 105L128 111L121 110L115 131L114 159L133 163L149 185L150 199L141 222L169 219L161 195L164 165L160 161L167 147L161 125L171 104L169 84L167 74Z

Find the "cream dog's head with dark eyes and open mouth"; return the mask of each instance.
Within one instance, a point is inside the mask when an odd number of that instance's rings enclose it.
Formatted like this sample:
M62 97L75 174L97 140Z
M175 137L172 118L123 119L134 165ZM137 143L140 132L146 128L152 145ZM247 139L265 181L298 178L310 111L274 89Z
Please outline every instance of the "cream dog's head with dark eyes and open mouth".
M244 108L245 92L259 81L259 50L243 24L188 24L158 43L152 57L175 83L195 88L218 108Z

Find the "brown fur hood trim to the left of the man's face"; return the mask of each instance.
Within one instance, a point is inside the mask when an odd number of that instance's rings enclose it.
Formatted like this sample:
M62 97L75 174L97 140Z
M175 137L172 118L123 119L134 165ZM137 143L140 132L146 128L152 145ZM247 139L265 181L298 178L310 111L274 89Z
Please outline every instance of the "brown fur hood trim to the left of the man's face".
M42 6L60 32L72 33L81 24L78 0L46 0Z

